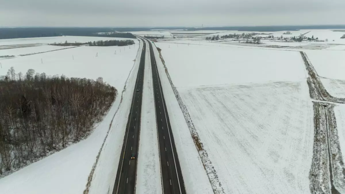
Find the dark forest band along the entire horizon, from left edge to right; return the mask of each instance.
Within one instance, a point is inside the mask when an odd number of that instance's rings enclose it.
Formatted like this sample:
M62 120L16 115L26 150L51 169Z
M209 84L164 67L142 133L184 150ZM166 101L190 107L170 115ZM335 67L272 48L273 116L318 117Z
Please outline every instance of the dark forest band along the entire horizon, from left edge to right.
M301 29L345 29L345 25L303 25L303 26L234 26L234 27L154 27L154 28L0 28L0 39L33 38L50 36L98 36L136 38L131 33L97 34L99 32L128 32L147 30L238 30L238 31L296 31Z

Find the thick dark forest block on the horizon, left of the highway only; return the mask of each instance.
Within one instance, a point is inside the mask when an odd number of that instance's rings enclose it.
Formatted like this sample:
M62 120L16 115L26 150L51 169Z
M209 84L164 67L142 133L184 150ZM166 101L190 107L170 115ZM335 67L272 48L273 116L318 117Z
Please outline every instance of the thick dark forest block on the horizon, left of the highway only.
M131 33L106 33L114 32L112 28L0 28L0 39L10 38L35 38L54 36L95 36L95 37L117 37L136 38Z

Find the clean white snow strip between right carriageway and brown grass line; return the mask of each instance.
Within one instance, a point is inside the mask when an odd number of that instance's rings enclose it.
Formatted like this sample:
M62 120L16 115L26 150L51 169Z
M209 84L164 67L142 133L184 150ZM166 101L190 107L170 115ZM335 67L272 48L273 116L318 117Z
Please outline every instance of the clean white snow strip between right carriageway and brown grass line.
M186 120L159 58L158 50L155 46L153 48L186 192L190 194L213 194L210 181L189 132Z

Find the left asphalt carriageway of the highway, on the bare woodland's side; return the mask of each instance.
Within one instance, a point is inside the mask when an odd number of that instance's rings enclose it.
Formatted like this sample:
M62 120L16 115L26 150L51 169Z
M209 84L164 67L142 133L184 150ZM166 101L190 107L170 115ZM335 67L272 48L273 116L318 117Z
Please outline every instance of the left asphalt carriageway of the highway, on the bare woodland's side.
M146 49L144 42L143 50ZM141 118L141 102L142 88L144 85L144 69L145 69L145 52L141 53L140 65L137 75L136 84L132 104L128 116L124 144L120 155L119 167L117 169L114 190L112 193L135 193L135 181L137 173L137 160L131 159L131 155L137 157L139 135L140 135L140 118Z

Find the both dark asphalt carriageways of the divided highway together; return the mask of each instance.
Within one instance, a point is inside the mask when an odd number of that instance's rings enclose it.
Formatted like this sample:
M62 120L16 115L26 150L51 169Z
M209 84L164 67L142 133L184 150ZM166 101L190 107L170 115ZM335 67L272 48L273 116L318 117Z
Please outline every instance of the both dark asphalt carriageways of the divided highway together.
M144 47L141 53L137 80L124 137L124 144L122 146L121 157L112 194L135 194L136 192L137 157L138 154L140 154L138 153L138 146L140 136L142 88L144 84L145 52L147 49L144 39L141 37L139 38L144 42ZM186 194L162 85L156 66L156 59L152 44L149 40L147 41L149 42L150 48L157 122L157 129L152 130L157 130L158 134L162 193ZM145 141L145 139L142 139L142 141ZM135 155L135 159L131 159L132 154Z

